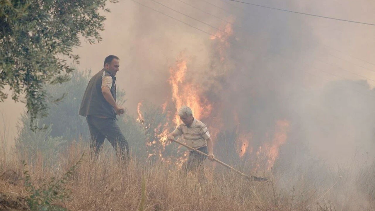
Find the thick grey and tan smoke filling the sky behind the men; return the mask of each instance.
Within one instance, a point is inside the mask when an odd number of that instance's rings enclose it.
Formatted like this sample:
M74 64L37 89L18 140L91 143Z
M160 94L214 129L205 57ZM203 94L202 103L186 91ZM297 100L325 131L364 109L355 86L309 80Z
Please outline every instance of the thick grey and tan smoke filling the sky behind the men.
M108 5L103 41L83 42L75 51L80 67L93 74L105 56L120 57L117 87L126 91L124 106L133 115L140 101L172 104L169 70L183 59L180 86L198 90L201 103L212 105L201 121L217 135L217 157L239 157L238 133L248 141L242 159L256 158L265 143L272 148L286 124L287 139L278 145L285 169L311 157L344 164L356 155L374 156L373 28L226 0L181 0L195 8L157 0L180 13L135 1L149 8L132 1ZM375 3L365 0L260 4L363 22L375 18Z

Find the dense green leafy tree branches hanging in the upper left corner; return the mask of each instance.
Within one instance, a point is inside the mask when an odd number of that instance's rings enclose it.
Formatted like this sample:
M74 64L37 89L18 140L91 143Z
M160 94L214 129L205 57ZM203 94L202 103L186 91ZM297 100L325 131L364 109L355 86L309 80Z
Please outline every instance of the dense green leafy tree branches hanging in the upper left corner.
M26 103L31 124L46 116L46 102L56 99L45 84L69 80L69 60L79 59L72 48L80 46L81 37L90 44L101 41L105 17L100 11L110 12L106 2L0 0L0 100L7 98L9 86L12 99Z

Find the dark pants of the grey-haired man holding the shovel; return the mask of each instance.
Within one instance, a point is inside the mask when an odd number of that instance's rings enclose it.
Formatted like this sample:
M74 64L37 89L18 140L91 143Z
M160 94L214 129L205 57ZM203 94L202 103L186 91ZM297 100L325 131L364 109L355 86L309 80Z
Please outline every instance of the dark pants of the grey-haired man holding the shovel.
M207 146L198 148L199 151L207 154ZM204 155L199 154L196 151L189 152L189 158L181 167L181 176L186 176L190 171L193 174L198 174L199 180L205 180L204 169L202 166L203 161L206 159Z

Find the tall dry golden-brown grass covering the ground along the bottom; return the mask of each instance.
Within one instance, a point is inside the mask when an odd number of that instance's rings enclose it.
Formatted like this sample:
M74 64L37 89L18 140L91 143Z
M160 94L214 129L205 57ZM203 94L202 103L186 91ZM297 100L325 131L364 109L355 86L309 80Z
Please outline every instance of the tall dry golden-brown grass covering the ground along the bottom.
M89 155L86 145L71 145L60 155L58 163L50 163L53 159L45 159L38 154L33 155L33 162L27 166L33 184L37 187L46 179L61 177L84 152ZM13 155L13 159L1 160L0 192L13 192L23 197L28 195L22 180L24 167L20 160L23 157L28 157L25 152ZM87 211L375 210L374 197L366 195L374 193L371 187L374 187L375 180L368 175L371 170L374 172L374 165L373 169L360 174L354 175L353 170L353 176L348 172L347 178L327 176L324 182L318 184L319 180L314 181L303 172L299 172L297 179L290 180L281 179L276 173L257 172L257 176L266 176L272 182L252 182L206 161L208 181L200 184L194 175L180 178L179 169L174 165L150 163L136 156L132 158L130 163L125 164L118 162L111 151L103 151L97 161L85 156L64 184L71 190L70 199L56 203L70 210ZM362 175L363 179L353 179L358 175ZM143 191L142 184L145 187ZM368 190L355 190L358 187ZM363 200L358 201L359 197L353 198L353 194L347 194L348 191L360 193Z

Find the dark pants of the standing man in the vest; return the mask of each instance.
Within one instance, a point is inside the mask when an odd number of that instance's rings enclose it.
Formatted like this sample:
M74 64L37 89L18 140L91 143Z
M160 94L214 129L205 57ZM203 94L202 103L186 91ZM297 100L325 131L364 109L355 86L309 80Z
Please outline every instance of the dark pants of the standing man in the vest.
M95 152L96 158L98 158L104 139L107 138L115 149L117 156L121 157L122 160L129 159L129 146L115 119L87 116L86 120L89 124L91 136L90 149Z

